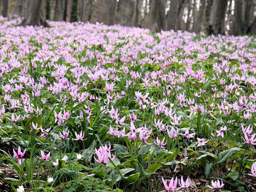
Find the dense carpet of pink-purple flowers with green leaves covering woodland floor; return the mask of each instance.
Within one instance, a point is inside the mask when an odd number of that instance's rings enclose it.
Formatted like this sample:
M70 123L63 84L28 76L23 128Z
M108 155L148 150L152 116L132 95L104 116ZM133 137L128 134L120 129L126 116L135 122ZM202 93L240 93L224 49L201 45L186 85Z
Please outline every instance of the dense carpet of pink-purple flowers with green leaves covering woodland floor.
M7 191L256 190L255 37L19 23L0 18Z

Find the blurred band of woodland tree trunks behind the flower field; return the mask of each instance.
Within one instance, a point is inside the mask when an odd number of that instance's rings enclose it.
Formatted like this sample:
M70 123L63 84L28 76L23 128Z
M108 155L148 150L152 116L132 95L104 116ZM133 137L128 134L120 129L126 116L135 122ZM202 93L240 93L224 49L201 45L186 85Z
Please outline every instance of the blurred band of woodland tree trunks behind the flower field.
M48 26L46 20L102 22L207 34L256 34L254 0L1 0L4 17L22 25Z

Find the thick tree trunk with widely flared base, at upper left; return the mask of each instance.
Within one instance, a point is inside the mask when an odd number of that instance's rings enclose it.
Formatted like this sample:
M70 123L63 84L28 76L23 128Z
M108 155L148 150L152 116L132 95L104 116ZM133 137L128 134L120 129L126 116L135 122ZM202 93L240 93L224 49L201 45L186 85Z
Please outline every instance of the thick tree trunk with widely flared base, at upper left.
M21 25L23 26L44 26L50 27L45 19L45 9L43 0L27 0L26 15Z

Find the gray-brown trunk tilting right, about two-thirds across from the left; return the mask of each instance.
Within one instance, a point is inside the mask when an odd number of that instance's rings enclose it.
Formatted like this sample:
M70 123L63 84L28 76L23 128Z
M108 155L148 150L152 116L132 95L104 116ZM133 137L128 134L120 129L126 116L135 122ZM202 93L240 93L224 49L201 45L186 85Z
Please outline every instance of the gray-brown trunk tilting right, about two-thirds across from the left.
M170 9L167 14L167 30L175 29L175 22L178 17L178 0L171 0Z

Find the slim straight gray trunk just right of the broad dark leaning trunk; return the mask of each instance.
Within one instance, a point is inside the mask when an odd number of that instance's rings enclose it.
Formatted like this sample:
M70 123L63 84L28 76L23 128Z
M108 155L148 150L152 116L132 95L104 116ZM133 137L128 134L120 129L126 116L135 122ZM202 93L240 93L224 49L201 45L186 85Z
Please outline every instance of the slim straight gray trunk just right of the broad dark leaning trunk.
M242 35L242 7L243 0L235 0L233 34Z

